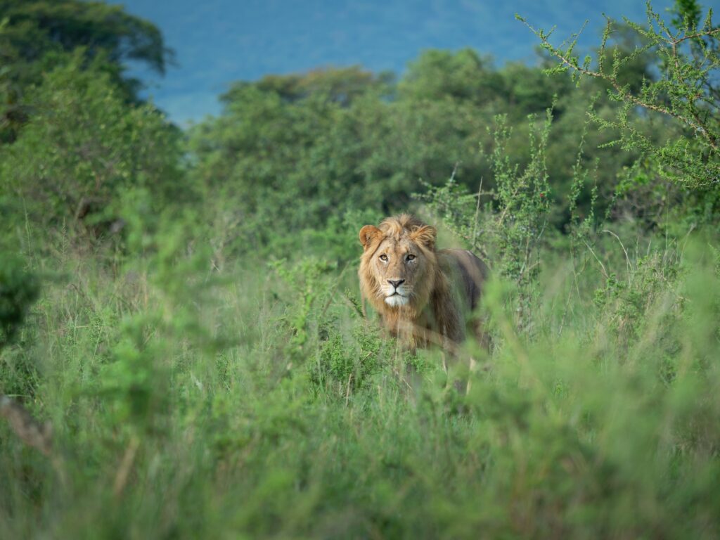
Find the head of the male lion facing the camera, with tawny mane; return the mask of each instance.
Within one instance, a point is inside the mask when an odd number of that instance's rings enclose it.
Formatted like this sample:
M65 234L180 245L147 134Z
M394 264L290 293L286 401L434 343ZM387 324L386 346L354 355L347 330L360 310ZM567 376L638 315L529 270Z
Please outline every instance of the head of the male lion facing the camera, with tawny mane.
M360 284L377 310L423 309L438 271L435 238L435 228L406 214L361 228Z

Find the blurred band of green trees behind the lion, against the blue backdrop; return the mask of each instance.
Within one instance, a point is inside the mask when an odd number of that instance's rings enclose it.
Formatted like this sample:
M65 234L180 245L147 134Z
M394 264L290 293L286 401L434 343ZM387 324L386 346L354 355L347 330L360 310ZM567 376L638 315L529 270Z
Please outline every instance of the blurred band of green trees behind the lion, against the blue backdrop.
M268 231L278 221L324 230L348 210L405 209L421 180L439 185L454 168L459 181L482 178L492 188L497 171L478 151L478 143L480 150L492 145L486 126L507 112L505 148L528 163L534 157L525 144L526 114L544 111L555 91L569 90L539 68L497 70L469 50L428 51L396 86L357 69L236 84L223 98L223 114L192 130L193 175L222 189L230 209L220 212L243 223L245 249L258 249L273 243ZM566 173L557 169L572 166L562 137L577 123L567 106L558 142L548 143L552 172L561 177Z

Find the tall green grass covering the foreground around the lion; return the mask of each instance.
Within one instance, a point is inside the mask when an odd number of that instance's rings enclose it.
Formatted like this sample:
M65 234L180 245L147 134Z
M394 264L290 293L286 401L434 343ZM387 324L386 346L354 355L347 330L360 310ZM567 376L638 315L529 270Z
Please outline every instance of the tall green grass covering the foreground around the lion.
M384 338L352 266L45 261L0 393L53 455L0 424L0 536L716 538L720 281L688 246L557 261L523 333L493 283L492 354L456 359Z

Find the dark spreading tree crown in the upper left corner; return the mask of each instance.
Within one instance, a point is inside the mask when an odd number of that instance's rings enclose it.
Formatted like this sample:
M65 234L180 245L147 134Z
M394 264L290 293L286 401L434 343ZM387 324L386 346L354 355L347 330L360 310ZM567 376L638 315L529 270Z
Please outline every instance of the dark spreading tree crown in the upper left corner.
M128 62L164 73L172 51L160 30L122 6L81 0L0 1L0 147L12 143L35 114L32 88L76 54L78 69L102 72L124 102L140 102L142 83ZM30 95L29 95L30 94Z

